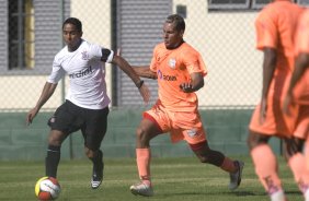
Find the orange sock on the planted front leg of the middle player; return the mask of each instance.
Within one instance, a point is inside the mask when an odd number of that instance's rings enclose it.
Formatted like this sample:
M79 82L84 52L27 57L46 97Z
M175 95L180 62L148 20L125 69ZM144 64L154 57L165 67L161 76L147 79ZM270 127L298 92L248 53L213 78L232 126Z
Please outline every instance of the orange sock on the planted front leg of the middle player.
M136 162L139 178L150 185L150 149L136 149Z

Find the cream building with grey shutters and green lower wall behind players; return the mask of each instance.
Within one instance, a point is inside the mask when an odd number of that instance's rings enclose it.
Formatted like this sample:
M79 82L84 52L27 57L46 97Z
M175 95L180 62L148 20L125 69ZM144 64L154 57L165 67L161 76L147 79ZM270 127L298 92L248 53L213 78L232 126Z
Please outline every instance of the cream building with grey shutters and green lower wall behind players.
M299 3L306 3L299 0ZM213 149L247 153L247 127L262 86L262 56L255 50L254 20L268 0L0 0L0 159L44 158L46 121L64 102L67 82L59 83L35 122L25 129L25 111L32 108L62 47L61 25L75 16L83 23L83 37L106 48L122 49L134 66L148 64L162 40L167 15L182 14L184 39L202 54L208 68L198 91L205 108L206 129ZM107 93L112 97L110 128L103 142L107 156L134 156L135 128L147 108L136 86L106 66ZM147 80L151 102L157 81ZM64 144L64 158L82 157L81 135ZM181 155L186 146L170 149L169 139L152 142L153 155ZM277 150L279 142L274 142ZM114 147L117 149L114 149ZM122 149L118 149L122 147ZM165 149L169 147L169 149ZM117 152L115 152L117 150Z

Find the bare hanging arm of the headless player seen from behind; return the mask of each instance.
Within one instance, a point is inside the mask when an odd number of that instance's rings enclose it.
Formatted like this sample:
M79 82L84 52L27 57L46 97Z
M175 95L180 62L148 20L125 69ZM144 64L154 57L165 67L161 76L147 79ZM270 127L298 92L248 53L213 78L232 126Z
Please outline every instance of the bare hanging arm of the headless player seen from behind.
M264 52L263 86L262 86L261 115L260 115L261 123L264 122L264 119L266 117L268 91L277 62L277 55L275 48L265 47L263 49L263 52Z

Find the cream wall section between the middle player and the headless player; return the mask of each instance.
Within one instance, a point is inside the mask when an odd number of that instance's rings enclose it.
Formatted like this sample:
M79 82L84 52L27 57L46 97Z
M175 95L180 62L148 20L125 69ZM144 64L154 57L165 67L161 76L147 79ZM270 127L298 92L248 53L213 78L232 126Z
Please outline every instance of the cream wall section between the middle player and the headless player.
M208 12L207 0L173 0L186 5L184 38L203 55L209 74L199 105L255 105L262 85L262 54L255 50L258 12Z

